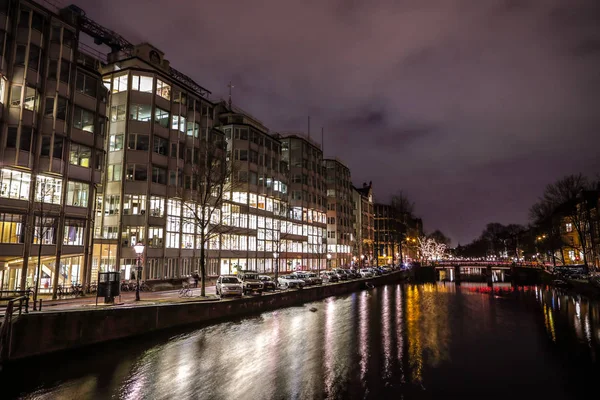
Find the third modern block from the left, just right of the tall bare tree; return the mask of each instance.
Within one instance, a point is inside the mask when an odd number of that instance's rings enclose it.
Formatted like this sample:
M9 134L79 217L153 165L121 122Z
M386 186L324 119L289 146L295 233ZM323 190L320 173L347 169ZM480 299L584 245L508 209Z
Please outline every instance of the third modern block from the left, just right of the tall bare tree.
M224 196L220 246L211 245L209 257L220 260L221 274L238 268L273 272L281 254L302 249L301 223L286 219L288 166L282 161L281 142L237 107L222 103L218 111L234 176ZM284 238L288 231L297 240Z

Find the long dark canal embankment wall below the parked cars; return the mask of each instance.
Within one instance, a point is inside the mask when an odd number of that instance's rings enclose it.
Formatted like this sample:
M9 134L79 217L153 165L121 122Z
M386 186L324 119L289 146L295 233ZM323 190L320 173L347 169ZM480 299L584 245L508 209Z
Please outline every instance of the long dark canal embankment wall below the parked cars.
M366 288L366 282L372 283L373 286L381 286L406 277L407 272L393 272L367 280L359 279L227 301L190 300L170 304L23 314L13 323L5 360L39 356L169 328L256 314L363 290Z

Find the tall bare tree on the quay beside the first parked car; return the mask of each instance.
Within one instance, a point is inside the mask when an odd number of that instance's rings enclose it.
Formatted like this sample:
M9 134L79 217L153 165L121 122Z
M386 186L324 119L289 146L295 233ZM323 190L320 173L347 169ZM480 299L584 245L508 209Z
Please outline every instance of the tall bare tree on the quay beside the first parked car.
M212 131L201 138L197 158L191 165L192 188L184 194L184 213L191 216L196 227L196 243L200 247L200 295L206 296L207 250L229 226L222 224L221 209L224 194L231 190L237 168L227 160L224 136ZM190 223L190 222L188 222Z

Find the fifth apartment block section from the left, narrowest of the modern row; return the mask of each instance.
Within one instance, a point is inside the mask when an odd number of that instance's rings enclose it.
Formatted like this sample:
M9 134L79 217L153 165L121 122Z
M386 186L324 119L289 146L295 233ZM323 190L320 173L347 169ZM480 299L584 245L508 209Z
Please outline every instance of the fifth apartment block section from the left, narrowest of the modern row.
M350 265L354 246L352 179L337 159L323 160L327 183L327 253L331 266Z

